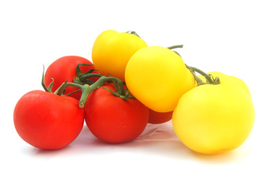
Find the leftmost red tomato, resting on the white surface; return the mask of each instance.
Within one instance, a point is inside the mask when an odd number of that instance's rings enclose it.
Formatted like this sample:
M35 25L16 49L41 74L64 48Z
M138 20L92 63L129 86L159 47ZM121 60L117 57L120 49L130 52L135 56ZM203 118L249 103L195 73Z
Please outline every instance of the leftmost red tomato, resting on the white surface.
M73 142L83 128L84 112L75 98L42 90L23 95L14 108L14 126L30 145L53 150Z

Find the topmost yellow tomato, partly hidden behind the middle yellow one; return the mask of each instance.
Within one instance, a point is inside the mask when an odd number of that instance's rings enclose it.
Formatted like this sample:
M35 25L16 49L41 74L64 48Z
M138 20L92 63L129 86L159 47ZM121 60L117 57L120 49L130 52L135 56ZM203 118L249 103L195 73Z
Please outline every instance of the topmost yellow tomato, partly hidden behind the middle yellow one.
M145 41L132 33L103 31L93 44L93 65L104 76L111 74L125 81L126 64L136 51L145 46Z

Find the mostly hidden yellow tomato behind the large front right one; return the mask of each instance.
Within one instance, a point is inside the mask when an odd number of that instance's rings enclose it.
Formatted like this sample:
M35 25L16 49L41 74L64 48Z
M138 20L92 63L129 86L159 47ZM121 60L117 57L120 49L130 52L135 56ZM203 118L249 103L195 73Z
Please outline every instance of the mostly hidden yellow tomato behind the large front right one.
M235 76L228 76L225 73L220 73L217 71L214 72L210 72L207 73L208 75L211 74L213 76L213 78L218 77L220 79L220 83L225 83L225 84L236 84L237 86L240 86L241 88L245 89L247 91L247 93L249 93L250 95L250 90L247 87L247 85L245 84L244 81L242 81L240 78L237 78ZM202 79L202 81L205 81L204 76L199 75L198 76L200 79Z

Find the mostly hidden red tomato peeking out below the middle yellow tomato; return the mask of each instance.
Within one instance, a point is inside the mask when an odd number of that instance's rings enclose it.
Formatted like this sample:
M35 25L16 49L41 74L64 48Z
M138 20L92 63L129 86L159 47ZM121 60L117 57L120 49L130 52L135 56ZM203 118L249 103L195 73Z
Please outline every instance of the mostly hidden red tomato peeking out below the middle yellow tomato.
M148 123L159 124L166 123L173 118L173 111L166 113L159 113L154 110L149 110Z

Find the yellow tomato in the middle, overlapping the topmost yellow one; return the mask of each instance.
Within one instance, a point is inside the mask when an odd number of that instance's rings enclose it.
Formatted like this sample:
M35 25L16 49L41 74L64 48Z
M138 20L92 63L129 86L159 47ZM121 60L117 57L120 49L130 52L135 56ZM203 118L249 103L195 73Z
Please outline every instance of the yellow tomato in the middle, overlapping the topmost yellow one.
M173 111L180 97L195 87L195 79L177 53L161 46L149 46L130 58L126 85L141 103L165 113Z

